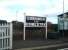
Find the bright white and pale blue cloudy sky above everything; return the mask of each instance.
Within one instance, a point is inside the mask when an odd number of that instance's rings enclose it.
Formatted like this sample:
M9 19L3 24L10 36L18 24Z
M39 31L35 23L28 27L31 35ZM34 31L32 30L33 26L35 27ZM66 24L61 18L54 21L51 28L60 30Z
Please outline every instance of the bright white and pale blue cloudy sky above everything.
M65 1L65 12L68 0ZM16 13L17 12L17 13ZM57 23L57 15L63 12L63 0L0 0L0 19L24 21L26 15L47 16L48 21Z

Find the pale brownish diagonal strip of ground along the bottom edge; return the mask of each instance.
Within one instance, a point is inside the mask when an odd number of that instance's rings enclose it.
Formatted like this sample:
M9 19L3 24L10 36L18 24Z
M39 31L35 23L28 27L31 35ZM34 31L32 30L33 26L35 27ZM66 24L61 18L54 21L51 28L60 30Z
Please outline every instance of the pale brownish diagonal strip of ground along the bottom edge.
M68 47L68 43L31 47L31 48L21 48L21 49L15 49L15 50L58 50L60 48L66 48L66 47Z

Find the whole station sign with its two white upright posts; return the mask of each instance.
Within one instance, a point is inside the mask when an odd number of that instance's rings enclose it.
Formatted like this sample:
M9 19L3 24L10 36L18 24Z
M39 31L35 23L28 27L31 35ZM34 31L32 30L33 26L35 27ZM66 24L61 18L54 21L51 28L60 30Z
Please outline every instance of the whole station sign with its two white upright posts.
M40 28L46 29L46 39L47 39L47 21L46 21L46 17L39 17L39 16L26 16L26 14L24 13L24 34L23 34L23 39L25 40L26 37L26 29L28 28L28 30L35 29L35 28ZM43 30L44 31L44 30ZM30 31L31 32L31 31ZM30 33L31 34L31 33ZM44 36L45 36L44 35ZM29 36L29 35L28 35ZM30 35L31 36L31 35Z

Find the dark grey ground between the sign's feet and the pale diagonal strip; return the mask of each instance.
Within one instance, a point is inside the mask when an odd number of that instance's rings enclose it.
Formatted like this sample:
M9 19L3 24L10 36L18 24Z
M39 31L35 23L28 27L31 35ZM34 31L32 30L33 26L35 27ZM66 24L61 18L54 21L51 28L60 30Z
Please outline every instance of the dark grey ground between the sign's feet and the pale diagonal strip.
M62 44L68 42L67 39L56 39L56 40L16 40L13 41L13 49L20 48L29 48L29 47L38 47L38 46L47 46L53 44Z

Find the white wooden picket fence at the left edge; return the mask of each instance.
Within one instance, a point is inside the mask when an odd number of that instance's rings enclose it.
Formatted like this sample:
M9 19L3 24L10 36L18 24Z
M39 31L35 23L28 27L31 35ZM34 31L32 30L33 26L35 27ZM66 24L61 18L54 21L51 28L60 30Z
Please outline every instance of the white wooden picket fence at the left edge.
M12 23L0 24L0 50L12 49Z

